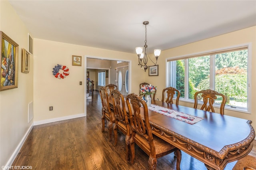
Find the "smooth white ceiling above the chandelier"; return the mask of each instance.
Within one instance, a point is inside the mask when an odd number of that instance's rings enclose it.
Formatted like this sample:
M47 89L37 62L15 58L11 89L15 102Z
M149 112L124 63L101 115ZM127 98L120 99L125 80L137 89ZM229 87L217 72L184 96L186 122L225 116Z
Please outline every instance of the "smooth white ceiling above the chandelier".
M135 53L256 26L256 0L9 0L34 38Z

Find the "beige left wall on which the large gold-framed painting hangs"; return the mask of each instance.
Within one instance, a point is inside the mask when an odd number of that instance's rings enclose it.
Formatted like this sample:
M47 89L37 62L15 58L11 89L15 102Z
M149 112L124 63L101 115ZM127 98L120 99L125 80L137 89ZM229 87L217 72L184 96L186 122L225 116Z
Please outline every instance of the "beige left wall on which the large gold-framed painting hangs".
M28 103L33 101L33 56L30 72L21 72L21 49L28 50L28 29L16 15L8 1L0 1L0 30L18 43L18 88L0 92L0 165L6 165L12 153L26 134Z

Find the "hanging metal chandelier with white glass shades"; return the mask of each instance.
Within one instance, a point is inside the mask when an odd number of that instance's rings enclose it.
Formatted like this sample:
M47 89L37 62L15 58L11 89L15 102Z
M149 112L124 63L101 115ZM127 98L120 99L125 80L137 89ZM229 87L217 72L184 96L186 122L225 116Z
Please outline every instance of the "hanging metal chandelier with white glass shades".
M143 51L143 47L136 47L136 53L138 55L138 59L139 59L139 63L138 65L140 65L141 69L144 69L144 71L146 72L146 70L148 69L147 63L148 63L148 58L150 59L150 56L148 55L148 45L147 45L147 25L149 24L148 21L144 21L143 25L145 25L145 45L144 45L144 52ZM156 63L157 63L157 59L159 57L161 53L161 49L154 49L154 55L156 57ZM152 61L152 59L150 59ZM156 63L154 61L152 61L154 63L154 65L156 65Z

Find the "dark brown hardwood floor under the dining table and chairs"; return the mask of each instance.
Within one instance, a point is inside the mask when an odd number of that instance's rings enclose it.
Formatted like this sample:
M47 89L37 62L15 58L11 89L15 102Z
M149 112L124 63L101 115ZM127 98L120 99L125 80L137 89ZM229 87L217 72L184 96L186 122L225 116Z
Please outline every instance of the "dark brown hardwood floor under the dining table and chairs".
M33 170L147 170L148 156L136 146L135 163L125 161L125 136L118 144L108 141L108 128L101 132L101 102L98 91L87 100L87 116L34 126L12 166ZM114 135L114 134L113 134ZM114 139L114 137L113 137ZM250 155L256 157L256 140ZM225 170L232 170L236 162ZM206 170L204 164L182 152L181 170ZM171 153L158 158L158 170L176 170Z

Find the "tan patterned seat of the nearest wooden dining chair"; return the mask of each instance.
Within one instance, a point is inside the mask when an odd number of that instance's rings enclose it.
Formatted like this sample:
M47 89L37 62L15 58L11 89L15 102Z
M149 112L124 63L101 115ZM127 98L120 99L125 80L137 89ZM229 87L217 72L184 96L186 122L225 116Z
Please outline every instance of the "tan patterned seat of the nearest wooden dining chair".
M176 148L175 146L169 144L168 142L162 140L161 138L159 138L155 135L153 135L153 136L154 136L153 143L156 148L156 158L161 157L163 155L163 153L168 153L168 152L171 153L171 152L173 152L172 149ZM145 148L146 150L143 149L144 147L142 149L148 155L150 154L150 146L146 139L144 139L142 136L136 134L134 140L136 140L137 142L143 143L143 146L146 146L146 148Z

